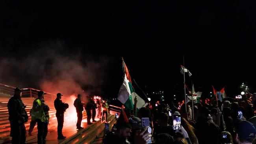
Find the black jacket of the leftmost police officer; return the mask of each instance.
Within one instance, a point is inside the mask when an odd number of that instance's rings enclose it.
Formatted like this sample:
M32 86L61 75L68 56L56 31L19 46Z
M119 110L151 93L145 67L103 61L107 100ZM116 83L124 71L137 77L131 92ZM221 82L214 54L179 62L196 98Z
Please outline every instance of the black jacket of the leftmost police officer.
M25 110L25 105L20 97L13 96L10 98L8 104L9 121L18 122L21 120L23 123L28 122L28 114Z

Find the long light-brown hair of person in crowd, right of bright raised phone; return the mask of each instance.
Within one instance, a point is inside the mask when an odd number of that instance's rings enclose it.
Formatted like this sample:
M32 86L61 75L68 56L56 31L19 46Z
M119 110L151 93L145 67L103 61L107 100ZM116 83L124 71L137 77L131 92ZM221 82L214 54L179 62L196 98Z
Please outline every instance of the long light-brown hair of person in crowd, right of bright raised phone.
M195 130L194 127L191 126L185 118L181 119L181 124L184 127L184 129L187 131L187 134L192 144L198 144L197 136L194 133L194 130Z

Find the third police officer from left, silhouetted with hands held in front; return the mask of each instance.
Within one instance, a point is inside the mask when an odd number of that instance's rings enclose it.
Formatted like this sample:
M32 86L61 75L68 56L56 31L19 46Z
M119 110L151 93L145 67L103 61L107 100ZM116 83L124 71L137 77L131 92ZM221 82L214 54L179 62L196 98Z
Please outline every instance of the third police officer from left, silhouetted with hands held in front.
M67 103L63 103L61 101L61 96L63 96L61 93L57 94L57 98L54 101L54 107L56 109L56 117L58 121L58 139L64 139L62 135L62 128L63 128L63 123L64 123L64 112L66 111L67 108L69 108L69 105Z

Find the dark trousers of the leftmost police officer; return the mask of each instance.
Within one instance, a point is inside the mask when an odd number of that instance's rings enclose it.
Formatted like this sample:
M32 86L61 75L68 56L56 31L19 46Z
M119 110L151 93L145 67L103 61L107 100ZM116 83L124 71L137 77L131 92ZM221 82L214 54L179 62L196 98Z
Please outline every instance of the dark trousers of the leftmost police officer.
M26 127L24 123L10 122L11 126L11 143L25 144L26 142Z

